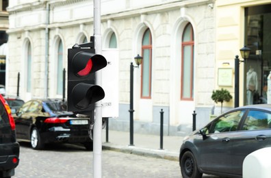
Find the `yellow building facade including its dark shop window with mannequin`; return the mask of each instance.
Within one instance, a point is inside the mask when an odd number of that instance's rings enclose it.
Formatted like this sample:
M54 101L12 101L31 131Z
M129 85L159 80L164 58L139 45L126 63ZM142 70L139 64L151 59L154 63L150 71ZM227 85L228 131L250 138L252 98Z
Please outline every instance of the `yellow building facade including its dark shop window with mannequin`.
M216 81L223 77L219 71L229 71L229 84L216 84L240 98L239 105L271 103L268 91L270 74L270 15L271 1L216 1ZM231 13L227 13L231 12ZM240 49L251 49L242 59ZM235 58L240 60L239 93L235 93ZM271 86L269 87L271 88ZM269 89L270 90L270 89ZM233 99L234 101L235 99Z

